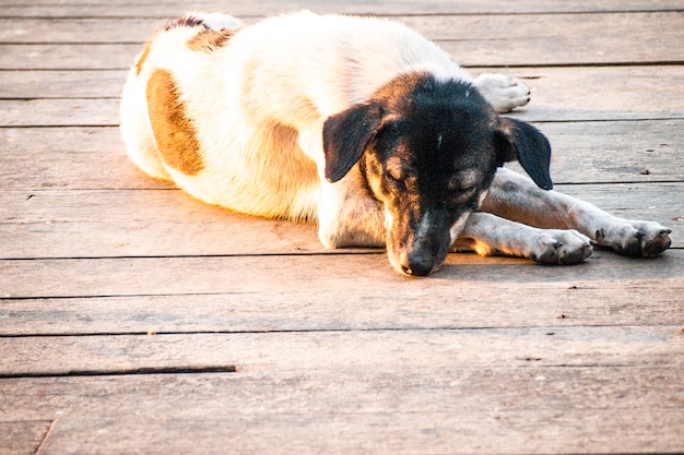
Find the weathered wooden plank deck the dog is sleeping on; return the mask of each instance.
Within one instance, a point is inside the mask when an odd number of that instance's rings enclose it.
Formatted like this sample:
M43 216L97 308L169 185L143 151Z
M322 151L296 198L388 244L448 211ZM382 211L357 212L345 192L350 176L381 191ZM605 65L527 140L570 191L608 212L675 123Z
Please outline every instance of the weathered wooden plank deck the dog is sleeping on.
M590 3L3 0L0 454L683 452L684 4ZM556 188L672 250L411 279L128 161L118 96L156 26L302 7L524 79Z

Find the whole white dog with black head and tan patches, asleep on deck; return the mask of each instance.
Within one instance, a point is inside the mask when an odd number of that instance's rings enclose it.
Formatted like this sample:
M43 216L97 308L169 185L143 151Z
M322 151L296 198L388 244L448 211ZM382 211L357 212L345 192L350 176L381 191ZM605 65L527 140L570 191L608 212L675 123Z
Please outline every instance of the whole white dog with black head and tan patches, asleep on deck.
M469 75L392 21L303 11L255 25L187 14L137 57L130 158L209 204L318 223L326 248L386 247L424 276L451 251L576 264L665 251L671 230L552 190L549 140L502 117L530 91ZM518 160L530 178L503 168Z

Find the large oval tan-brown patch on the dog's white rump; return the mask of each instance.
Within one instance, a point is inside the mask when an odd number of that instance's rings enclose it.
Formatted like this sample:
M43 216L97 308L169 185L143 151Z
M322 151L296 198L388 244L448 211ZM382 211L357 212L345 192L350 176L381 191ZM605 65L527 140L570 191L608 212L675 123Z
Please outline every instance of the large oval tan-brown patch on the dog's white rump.
M188 176L199 173L204 164L192 121L186 115L173 74L156 70L148 81L148 110L157 147L164 161Z

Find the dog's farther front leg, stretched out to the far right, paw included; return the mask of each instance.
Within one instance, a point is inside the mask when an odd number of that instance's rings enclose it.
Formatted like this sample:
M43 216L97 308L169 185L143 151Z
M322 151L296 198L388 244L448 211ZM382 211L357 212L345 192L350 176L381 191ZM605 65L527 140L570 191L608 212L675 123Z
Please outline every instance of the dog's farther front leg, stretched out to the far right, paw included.
M599 246L630 256L660 254L671 244L672 231L658 223L610 215L586 201L544 191L508 169L497 172L482 209L541 228L577 229Z

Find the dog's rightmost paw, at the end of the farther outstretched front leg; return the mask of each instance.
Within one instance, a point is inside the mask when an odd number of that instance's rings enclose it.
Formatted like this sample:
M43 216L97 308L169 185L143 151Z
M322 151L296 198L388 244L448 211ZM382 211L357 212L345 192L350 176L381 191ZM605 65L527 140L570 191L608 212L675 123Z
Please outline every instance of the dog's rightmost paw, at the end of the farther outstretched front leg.
M672 230L654 221L621 220L614 226L597 229L600 246L610 247L632 258L650 258L662 253L672 244Z

